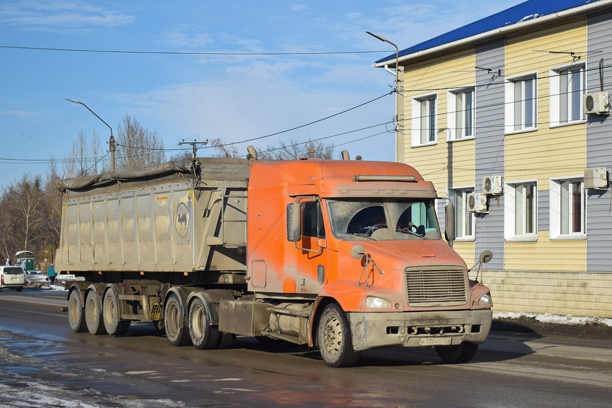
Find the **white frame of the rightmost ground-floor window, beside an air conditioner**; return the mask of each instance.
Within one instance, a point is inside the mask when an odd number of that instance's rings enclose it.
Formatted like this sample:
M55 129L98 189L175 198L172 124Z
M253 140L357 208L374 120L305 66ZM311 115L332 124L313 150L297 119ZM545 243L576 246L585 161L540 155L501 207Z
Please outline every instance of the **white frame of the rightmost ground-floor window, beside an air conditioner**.
M581 183L581 232L569 232L561 234L561 182L569 181ZM550 239L567 240L567 239L586 239L586 206L587 206L587 190L584 188L583 174L580 176L565 176L552 177L550 179ZM571 195L568 197L568 222L572 223L573 206Z

